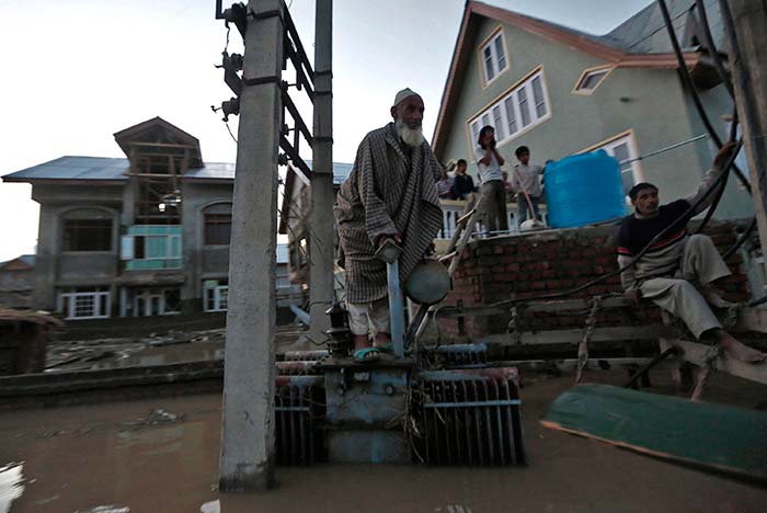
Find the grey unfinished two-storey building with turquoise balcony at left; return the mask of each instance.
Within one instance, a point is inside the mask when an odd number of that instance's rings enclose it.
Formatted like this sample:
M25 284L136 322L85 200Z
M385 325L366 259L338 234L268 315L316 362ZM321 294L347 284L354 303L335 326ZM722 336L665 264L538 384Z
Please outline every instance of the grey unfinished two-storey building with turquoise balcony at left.
M3 176L39 204L30 306L66 319L225 311L234 164L203 161L199 141L160 117L114 137L125 158ZM284 247L276 284L279 306L300 303Z

